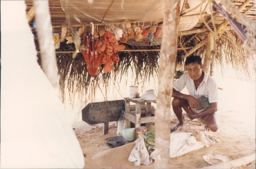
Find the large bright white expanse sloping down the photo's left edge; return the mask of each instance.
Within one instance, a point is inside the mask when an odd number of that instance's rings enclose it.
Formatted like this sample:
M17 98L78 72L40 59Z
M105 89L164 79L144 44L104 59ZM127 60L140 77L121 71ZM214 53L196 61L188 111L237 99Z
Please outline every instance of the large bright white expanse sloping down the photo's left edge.
M0 167L83 168L64 106L37 63L25 9L24 1L1 1Z

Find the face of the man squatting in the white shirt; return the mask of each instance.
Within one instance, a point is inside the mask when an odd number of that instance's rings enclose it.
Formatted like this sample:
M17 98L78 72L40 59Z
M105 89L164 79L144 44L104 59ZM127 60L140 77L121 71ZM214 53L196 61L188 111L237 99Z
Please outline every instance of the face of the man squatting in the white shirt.
M202 75L202 70L204 65L199 65L198 63L190 63L187 65L187 73L189 77L193 80L198 80Z

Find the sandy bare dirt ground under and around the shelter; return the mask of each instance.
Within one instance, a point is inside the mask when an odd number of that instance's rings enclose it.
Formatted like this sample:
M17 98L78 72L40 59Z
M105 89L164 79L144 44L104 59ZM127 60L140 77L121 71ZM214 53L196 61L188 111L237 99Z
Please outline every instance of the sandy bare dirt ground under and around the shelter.
M220 139L221 142L210 147L191 151L183 156L170 158L170 168L201 168L209 166L210 164L203 159L203 156L207 153L227 155L230 160L255 154L255 107L223 111L220 113L220 117L221 128L216 133L211 133ZM172 119L171 126L174 126L177 123L177 118L172 115ZM117 147L119 148L118 151L110 151L112 148L106 145L104 139L116 135L117 129L114 122L110 123L107 135L103 135L102 124L88 125L86 122L76 122L73 124L73 127L75 128L74 131L81 144L81 148L86 154L85 168L154 168L154 162L150 165L141 164L135 167L133 162L128 161L130 149L122 150L121 147ZM154 127L154 124L152 124L151 128ZM193 132L196 130L203 131L204 126L200 126L200 123L189 122L180 131ZM125 145L132 145L131 143L126 142ZM106 155L99 159L99 156L101 156L99 154L106 151L108 153L105 153ZM239 168L255 168L255 161L248 165L242 165Z

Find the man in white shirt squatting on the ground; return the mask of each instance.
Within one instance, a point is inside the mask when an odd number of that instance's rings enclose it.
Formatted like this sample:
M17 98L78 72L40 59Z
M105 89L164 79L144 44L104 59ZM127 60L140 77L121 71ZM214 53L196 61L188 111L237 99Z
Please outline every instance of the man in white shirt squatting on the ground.
M178 118L178 124L171 128L171 132L181 129L184 125L182 108L189 119L198 119L205 125L206 131L216 132L220 128L218 110L218 88L211 76L204 72L204 65L200 56L186 58L185 72L173 84L172 107ZM189 95L180 93L186 86Z

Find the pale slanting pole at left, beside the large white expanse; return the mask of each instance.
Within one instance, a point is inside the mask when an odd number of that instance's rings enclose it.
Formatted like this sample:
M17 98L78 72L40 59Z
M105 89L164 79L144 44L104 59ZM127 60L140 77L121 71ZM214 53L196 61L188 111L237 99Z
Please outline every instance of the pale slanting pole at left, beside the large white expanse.
M56 92L58 88L58 72L54 41L52 40L52 24L50 23L50 11L48 1L34 0L37 32L41 51L42 70L49 79ZM58 95L59 96L59 95Z

